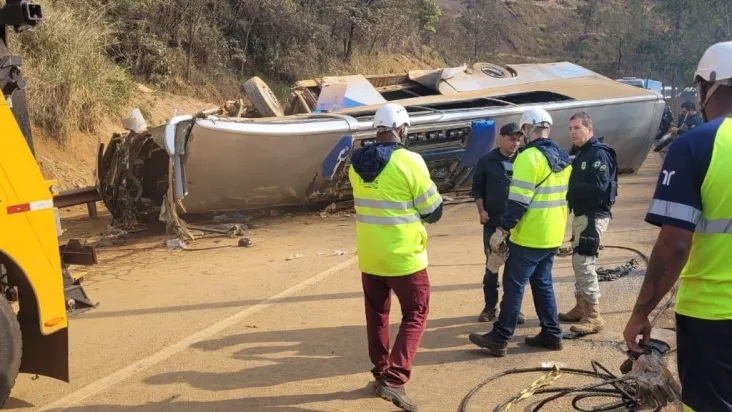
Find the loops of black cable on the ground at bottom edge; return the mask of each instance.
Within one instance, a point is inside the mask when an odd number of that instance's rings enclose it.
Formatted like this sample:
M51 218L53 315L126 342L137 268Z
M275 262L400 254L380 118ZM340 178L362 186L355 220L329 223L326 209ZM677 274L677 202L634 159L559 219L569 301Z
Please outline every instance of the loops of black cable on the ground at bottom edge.
M635 398L633 397L633 385L632 380L625 377L616 377L614 374L612 374L610 371L607 370L604 366L602 366L597 361L591 361L592 364L592 370L584 370L584 369L574 369L574 368L560 368L559 373L566 373L566 374L572 374L572 375L582 375L582 376L589 376L594 377L597 379L600 379L602 382L595 383L592 385L587 385L583 387L567 387L567 388L545 388L545 389L536 389L533 391L534 395L540 395L540 394L549 394L554 393L554 395L542 400L539 402L532 411L538 411L548 403L555 401L557 399L561 399L568 395L575 395L572 399L572 407L577 411L582 412L601 412L601 411L609 411L614 410L617 408L625 407L628 410L635 410L638 407L637 402L635 401ZM517 369L511 369L505 372L498 373L496 375L493 375L489 377L488 379L483 380L478 385L476 385L473 389L468 392L467 395L463 398L463 400L460 402L460 406L458 407L458 412L466 412L468 404L470 403L470 399L477 393L481 388L486 386L487 384L502 378L507 375L512 374L518 374L518 373L530 373L530 372L552 372L556 369L553 367L537 367L537 368L517 368ZM612 388L602 388L602 386L611 386ZM601 407L596 408L590 408L590 409L584 409L580 407L578 404L580 401L593 399L593 398L614 398L619 399L618 402L613 403L612 405L605 405ZM494 411L500 411L502 408L507 406L508 404L516 401L517 397L514 397L506 402L503 402L502 404L496 406L493 408ZM656 409L658 410L658 409Z

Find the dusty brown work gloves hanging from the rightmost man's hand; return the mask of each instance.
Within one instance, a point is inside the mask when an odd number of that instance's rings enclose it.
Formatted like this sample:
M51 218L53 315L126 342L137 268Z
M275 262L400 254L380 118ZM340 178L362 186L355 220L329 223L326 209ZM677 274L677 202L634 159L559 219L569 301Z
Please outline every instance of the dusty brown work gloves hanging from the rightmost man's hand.
M628 351L620 371L632 379L638 410L657 409L681 400L681 387L666 368L663 356L670 347L663 341L651 339L641 344L643 353Z

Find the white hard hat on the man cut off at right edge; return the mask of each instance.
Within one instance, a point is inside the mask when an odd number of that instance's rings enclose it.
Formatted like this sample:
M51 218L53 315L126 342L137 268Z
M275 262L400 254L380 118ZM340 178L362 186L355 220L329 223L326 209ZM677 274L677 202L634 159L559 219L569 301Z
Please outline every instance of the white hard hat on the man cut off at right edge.
M732 86L732 41L710 46L702 55L694 73L694 81L699 83L699 103L704 107L709 97L719 86Z

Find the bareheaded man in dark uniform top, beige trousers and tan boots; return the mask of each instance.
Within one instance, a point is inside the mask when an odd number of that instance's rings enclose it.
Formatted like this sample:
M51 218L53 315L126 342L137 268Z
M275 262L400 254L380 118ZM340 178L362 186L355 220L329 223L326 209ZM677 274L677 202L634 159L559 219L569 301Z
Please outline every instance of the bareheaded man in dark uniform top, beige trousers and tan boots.
M594 136L592 119L587 113L575 113L569 120L569 131L575 155L567 201L574 213L572 267L576 304L568 312L560 313L559 320L579 321L570 330L589 334L604 327L596 267L600 238L610 223L610 208L617 194L618 164L615 151Z

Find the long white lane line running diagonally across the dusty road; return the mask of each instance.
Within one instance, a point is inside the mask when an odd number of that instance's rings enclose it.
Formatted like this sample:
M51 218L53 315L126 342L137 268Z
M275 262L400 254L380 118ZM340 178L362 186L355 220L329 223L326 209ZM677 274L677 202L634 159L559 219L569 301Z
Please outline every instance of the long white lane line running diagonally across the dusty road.
M320 282L321 280L327 278L328 276L343 270L349 266L351 266L353 263L355 263L358 260L358 256L354 256L348 260L345 260L335 266L333 266L330 269L327 269L309 279L304 280L301 283L298 283L297 285L285 289L284 291L263 300L260 303L257 303L254 306L251 306L247 309L242 310L239 313L236 313L232 316L229 316L226 319L221 320L218 323L215 323L206 329L203 329L197 333L194 333L193 335L188 336L187 338L183 338L182 340L163 348L162 350L148 356L147 358L140 359L139 361L127 366L124 369L120 369L117 372L114 372L111 375L108 375L104 378L99 379L96 382L90 383L87 386L84 386L83 388L72 392L71 394L59 399L56 402L49 403L40 409L38 411L49 411L52 409L65 409L68 408L78 402L81 402L82 400L97 394L110 386L129 378L130 376L149 368L150 366L153 366L157 363L160 363L161 361L168 359L169 357L175 355L178 352L181 352L188 347L203 341L204 339L210 338L211 336L221 332L222 330L229 328L231 326L236 325L237 323L241 322L242 320L248 318L249 316L252 316L258 312L263 311L264 309L267 309L268 307L272 306L274 303L276 303L279 300L282 300L283 298L286 298L288 296L294 295L295 293L307 288L308 286L311 286L315 283Z

